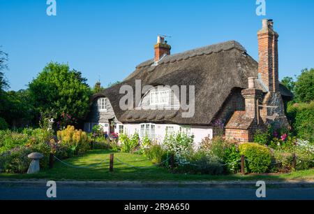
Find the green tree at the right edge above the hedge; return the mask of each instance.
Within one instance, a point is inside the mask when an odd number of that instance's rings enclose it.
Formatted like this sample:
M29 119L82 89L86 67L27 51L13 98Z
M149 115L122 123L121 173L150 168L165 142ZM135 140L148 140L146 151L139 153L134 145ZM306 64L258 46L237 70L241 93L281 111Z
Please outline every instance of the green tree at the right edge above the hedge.
M294 87L297 102L309 103L314 100L314 69L304 69Z

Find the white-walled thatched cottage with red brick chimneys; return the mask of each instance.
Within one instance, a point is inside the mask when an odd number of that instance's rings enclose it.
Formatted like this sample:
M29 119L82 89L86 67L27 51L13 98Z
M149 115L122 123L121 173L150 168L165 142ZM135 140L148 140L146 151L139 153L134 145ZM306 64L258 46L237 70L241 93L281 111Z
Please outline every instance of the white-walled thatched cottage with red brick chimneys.
M166 132L181 131L193 134L197 143L206 136L212 138L217 125L223 125L227 138L239 141L252 141L255 131L267 124L287 126L285 102L292 94L278 80L278 34L273 24L262 20L257 32L259 62L236 41L170 55L170 45L158 36L154 59L137 65L119 85L92 97L84 129L91 131L100 124L108 133L137 131L141 137L147 134L157 141L162 141ZM121 109L125 96L121 87L129 85L135 92L138 80L140 101L134 98L129 103L133 108ZM144 85L150 87L144 89ZM195 101L192 117L182 116L182 98L172 90L174 85L186 86L186 90L194 86L193 100L186 93L187 104Z

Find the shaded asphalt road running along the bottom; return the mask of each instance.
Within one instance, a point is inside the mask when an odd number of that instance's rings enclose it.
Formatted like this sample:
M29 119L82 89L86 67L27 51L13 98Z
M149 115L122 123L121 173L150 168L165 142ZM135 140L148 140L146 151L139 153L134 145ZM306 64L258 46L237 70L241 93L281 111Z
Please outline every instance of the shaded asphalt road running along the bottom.
M49 199L48 187L33 184L0 183L0 200ZM258 199L257 187L98 187L88 185L58 185L55 199L113 199L113 200L219 200ZM265 199L314 199L313 187L267 187ZM51 200L51 199L50 199Z

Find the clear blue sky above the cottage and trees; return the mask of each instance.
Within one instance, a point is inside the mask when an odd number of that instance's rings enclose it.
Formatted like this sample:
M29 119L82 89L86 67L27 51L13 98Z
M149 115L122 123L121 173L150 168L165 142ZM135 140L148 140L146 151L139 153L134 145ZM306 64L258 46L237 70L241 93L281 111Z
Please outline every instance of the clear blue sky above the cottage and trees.
M279 37L280 78L314 67L314 1L266 0L57 0L47 16L46 0L0 0L0 45L9 54L6 78L20 90L48 62L68 63L89 85L123 80L154 57L158 34L172 36L172 53L239 41L257 59L257 30L274 19Z

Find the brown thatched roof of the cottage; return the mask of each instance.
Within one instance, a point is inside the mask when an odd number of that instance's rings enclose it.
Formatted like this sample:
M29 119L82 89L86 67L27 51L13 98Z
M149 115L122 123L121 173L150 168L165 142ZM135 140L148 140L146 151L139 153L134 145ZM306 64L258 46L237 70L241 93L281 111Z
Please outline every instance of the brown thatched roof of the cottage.
M234 88L247 88L248 77L257 78L257 62L236 41L209 45L164 57L157 66L154 59L139 64L119 85L106 89L96 97L110 99L120 122L170 122L174 124L208 125ZM195 115L181 117L181 110L121 110L121 85L135 88L135 80L144 85L195 85ZM282 89L282 87L281 87ZM283 91L285 92L285 91ZM187 93L188 94L188 93ZM285 94L287 94L285 92Z

